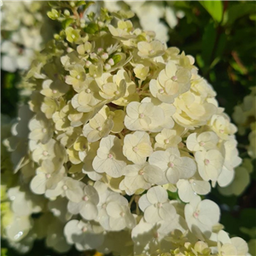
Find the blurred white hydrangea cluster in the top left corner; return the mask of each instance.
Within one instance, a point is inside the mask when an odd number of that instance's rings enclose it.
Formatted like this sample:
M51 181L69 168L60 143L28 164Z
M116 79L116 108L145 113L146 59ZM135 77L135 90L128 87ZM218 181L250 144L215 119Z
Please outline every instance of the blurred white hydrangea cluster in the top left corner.
M42 49L43 2L1 1L1 68L7 72L27 70L35 52ZM14 19L15 17L15 19ZM49 32L49 27L48 27Z

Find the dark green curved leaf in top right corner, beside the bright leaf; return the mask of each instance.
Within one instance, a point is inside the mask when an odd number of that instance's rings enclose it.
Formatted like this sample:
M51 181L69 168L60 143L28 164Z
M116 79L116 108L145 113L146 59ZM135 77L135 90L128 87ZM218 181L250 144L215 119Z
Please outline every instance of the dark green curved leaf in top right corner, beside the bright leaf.
M232 25L237 19L244 15L255 15L256 4L255 3L239 3L235 4L227 10L224 15L223 24Z

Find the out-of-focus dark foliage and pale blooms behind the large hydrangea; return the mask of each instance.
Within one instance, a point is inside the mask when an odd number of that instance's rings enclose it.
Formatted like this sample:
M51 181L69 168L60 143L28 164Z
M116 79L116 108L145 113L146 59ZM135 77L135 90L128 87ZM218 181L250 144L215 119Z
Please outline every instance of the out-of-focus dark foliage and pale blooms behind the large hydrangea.
M105 5L110 11L118 8L133 10L137 26L154 30L157 37L166 41L169 47L175 46L187 55L193 55L199 73L216 90L220 107L225 108L233 123L238 125L238 148L241 158L246 159L246 171L241 172L241 177L246 176L247 181L235 183L232 188L234 191L231 192L213 189L207 198L218 203L221 208L220 223L224 224L225 230L230 235L250 241L250 252L253 256L256 255L255 154L249 151L249 148L255 150L256 147L255 125L253 126L256 115L255 1L125 0L97 4ZM96 11L98 8L96 6L91 10ZM44 49L45 42L58 30L46 16L47 9L46 2L34 0L32 4L21 1L16 4L3 1L0 13L0 112L10 119L15 118L17 107L26 102L31 93L29 86L22 84L22 76L37 52ZM3 118L5 117L1 115L1 122ZM1 256L19 254L4 241L1 241L0 247ZM26 255L59 254L44 247L44 241L36 241L32 251ZM73 250L66 255L78 253ZM91 252L81 255L100 254Z

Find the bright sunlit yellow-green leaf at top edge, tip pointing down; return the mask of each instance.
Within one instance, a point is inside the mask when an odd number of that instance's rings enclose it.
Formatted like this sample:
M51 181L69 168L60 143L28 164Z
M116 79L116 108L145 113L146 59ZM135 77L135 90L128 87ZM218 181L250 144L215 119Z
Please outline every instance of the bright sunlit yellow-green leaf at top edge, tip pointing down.
M222 20L223 3L222 0L199 0L199 3L207 10L212 16L213 20L218 23Z

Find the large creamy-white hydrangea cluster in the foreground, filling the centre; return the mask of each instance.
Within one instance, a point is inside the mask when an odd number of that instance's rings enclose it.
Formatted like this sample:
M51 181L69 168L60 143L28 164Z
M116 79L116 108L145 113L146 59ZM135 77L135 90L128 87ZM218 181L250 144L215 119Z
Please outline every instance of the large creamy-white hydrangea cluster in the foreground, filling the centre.
M247 255L200 196L241 159L194 58L123 12L84 23L83 3L55 2L64 29L27 73L30 102L4 140L17 181L3 236L24 251L45 238L61 253Z

